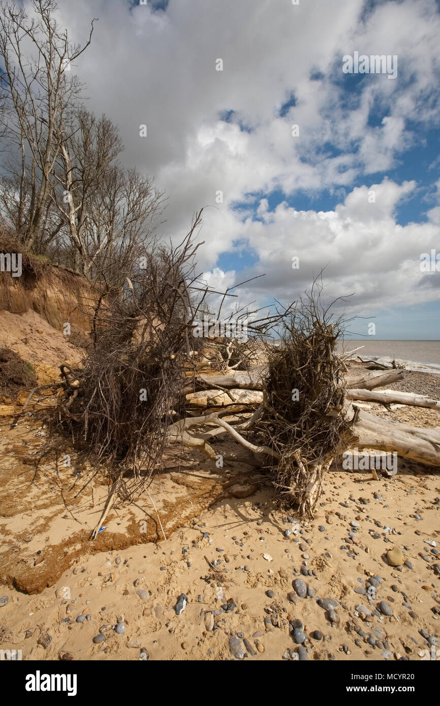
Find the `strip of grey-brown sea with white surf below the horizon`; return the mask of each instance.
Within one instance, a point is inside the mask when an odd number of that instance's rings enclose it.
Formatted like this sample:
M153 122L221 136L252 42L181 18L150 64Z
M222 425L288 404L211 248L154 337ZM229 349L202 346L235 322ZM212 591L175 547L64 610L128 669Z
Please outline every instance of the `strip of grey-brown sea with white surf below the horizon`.
M341 340L338 350L348 352L359 346L362 348L353 353L353 357L359 356L362 360L374 360L388 365L395 360L397 365L405 366L407 370L440 375L440 341L381 341L373 338L362 340L350 338Z

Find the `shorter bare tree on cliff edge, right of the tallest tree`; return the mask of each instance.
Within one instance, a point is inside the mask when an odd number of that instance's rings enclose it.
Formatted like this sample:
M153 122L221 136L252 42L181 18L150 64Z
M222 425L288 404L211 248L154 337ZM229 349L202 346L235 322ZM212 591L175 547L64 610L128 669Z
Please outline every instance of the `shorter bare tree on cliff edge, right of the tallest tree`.
M76 133L61 140L52 200L69 229L73 266L91 280L120 284L150 240L162 193L152 177L121 166L124 147L112 121L83 108L76 121Z

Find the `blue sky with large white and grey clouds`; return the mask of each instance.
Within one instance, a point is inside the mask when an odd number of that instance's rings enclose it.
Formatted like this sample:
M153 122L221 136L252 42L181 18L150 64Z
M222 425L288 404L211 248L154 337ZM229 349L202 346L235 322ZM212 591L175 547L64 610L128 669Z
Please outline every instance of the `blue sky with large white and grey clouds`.
M72 71L165 190L161 237L204 207L210 286L264 274L237 301L287 304L323 270L347 335L440 339L439 1L58 4L78 42L99 18ZM346 73L349 55L389 68Z

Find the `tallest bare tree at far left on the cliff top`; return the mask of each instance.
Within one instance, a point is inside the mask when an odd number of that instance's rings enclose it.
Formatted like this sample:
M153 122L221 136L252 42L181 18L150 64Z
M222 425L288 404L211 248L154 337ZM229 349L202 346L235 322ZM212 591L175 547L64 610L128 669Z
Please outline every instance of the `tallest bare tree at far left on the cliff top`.
M15 164L5 164L12 183L4 181L3 187L16 186L8 213L18 237L30 247L49 215L62 141L75 129L71 115L81 83L71 73L71 62L88 47L93 32L92 22L85 44L71 44L54 19L56 11L53 0L32 0L31 12L15 2L0 8L0 98L5 106L0 121Z

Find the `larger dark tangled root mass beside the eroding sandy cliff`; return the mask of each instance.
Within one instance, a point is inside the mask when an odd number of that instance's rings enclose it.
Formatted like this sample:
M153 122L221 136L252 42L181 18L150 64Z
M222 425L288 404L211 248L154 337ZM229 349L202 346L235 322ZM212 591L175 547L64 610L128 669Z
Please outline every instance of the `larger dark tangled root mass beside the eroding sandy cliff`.
M57 421L112 469L124 500L160 468L182 392L194 309L187 281L196 251L191 237L177 248L145 253L121 292L107 289L95 309L93 345L81 370L61 366L66 380ZM141 479L142 477L142 479Z

